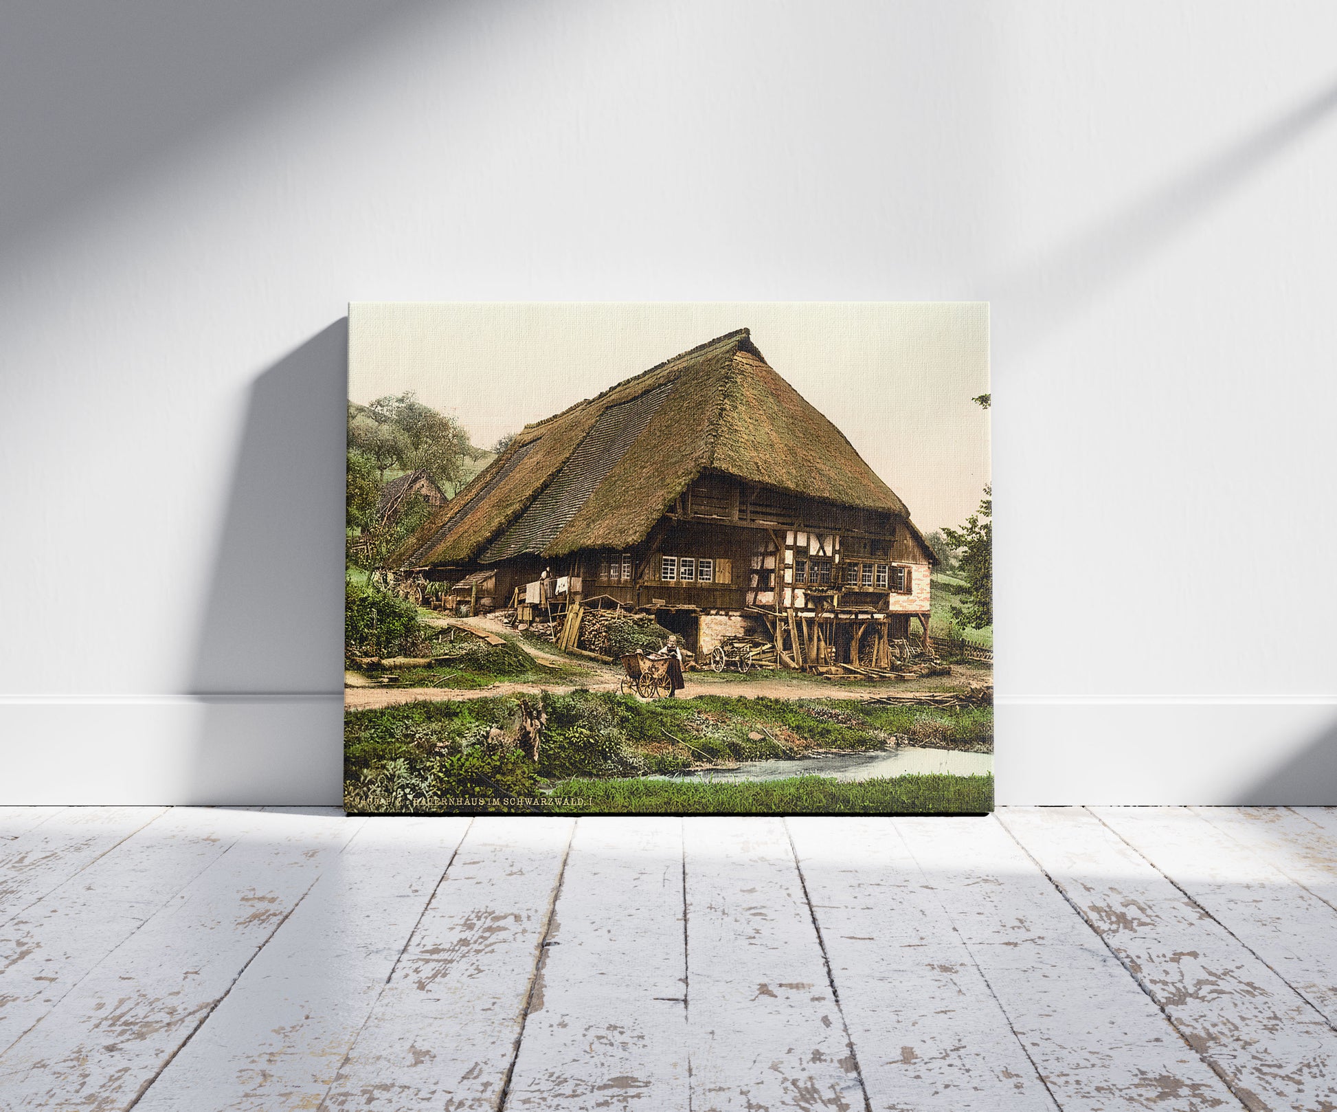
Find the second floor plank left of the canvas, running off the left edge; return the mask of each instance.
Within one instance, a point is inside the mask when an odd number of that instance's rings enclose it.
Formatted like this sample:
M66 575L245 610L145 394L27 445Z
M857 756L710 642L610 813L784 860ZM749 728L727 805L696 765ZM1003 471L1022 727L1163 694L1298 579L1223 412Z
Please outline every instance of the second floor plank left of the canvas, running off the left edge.
M0 927L0 1053L255 822L174 808Z

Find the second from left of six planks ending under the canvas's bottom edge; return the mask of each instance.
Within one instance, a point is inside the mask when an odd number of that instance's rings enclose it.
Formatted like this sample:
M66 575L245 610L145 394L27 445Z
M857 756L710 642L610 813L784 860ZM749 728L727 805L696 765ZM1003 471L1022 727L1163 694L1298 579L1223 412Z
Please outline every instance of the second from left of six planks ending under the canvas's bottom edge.
M497 1105L574 827L475 819L322 1108Z

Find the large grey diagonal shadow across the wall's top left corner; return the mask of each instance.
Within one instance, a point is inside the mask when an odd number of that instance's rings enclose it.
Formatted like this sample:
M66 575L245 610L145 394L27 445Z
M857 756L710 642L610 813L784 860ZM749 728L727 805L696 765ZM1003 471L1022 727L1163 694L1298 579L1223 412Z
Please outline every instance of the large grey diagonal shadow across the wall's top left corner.
M151 173L313 68L396 29L422 0L122 0L5 5L0 250Z

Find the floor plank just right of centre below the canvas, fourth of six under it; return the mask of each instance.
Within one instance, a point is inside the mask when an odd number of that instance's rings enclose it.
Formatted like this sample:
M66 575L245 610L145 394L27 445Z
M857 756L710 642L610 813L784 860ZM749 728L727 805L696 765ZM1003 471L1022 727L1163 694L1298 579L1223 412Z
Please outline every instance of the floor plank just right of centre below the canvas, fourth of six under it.
M694 1112L864 1107L783 822L693 819L685 839Z

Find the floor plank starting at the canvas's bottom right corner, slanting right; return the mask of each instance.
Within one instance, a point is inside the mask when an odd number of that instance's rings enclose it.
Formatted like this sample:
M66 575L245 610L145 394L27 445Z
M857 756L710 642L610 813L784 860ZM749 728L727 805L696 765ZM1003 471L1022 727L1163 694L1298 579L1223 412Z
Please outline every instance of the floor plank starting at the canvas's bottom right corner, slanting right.
M1146 858L1082 808L1001 822L1246 1107L1333 1107L1337 1032Z

